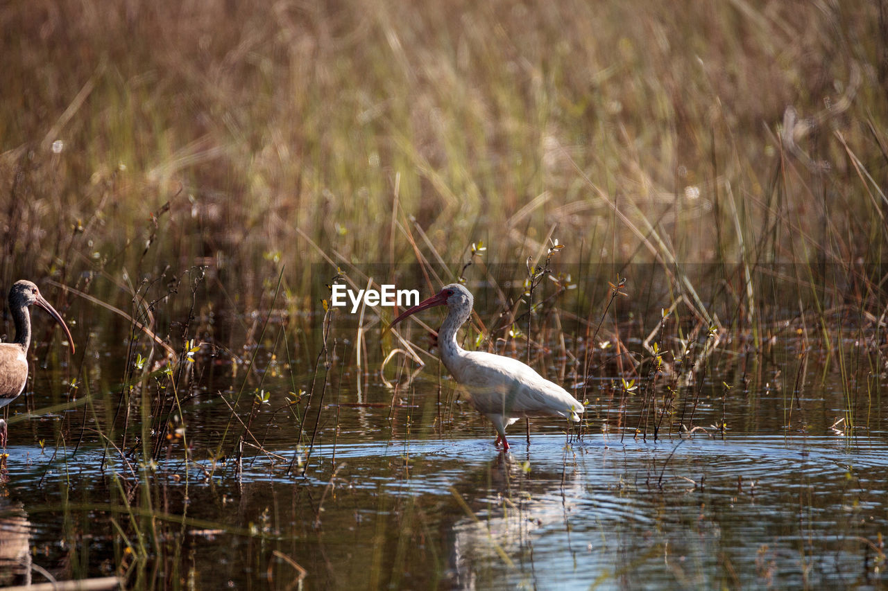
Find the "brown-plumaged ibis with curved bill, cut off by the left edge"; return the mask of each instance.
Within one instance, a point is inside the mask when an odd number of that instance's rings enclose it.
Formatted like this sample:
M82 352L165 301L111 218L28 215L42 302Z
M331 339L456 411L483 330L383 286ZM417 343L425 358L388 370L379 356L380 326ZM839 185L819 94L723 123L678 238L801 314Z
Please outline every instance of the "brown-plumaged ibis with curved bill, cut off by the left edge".
M9 309L15 322L15 340L0 343L0 408L19 397L28 382L28 345L31 343L31 316L28 306L36 303L65 329L67 343L74 352L74 339L59 312L40 295L30 281L20 280L9 290ZM6 422L0 419L0 445L6 447Z

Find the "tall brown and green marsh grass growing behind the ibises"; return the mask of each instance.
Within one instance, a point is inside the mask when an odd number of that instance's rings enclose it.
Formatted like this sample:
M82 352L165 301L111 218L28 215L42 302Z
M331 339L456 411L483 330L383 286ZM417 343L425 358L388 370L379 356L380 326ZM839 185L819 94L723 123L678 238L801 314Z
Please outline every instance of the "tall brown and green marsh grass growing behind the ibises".
M377 284L464 275L466 345L565 384L585 434L882 428L881 3L180 10L13 2L0 56L0 276L81 292L59 309L91 351L29 410L69 411L50 447L122 462L115 523L143 563L152 462L203 485L198 453L233 477L289 429L275 461L304 474L329 399L367 402L390 311L327 334L321 299L371 264ZM528 256L547 272L523 296ZM437 372L423 339L382 339L390 420ZM439 382L416 415L440 432L454 401Z

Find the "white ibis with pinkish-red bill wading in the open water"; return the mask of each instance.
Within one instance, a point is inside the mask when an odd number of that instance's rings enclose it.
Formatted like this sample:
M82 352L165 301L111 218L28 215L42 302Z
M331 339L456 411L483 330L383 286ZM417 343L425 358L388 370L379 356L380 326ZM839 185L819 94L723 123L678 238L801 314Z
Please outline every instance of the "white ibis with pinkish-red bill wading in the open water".
M580 422L583 405L556 383L537 374L518 359L486 351L465 351L456 343L456 331L472 314L472 293L458 283L451 283L432 296L404 311L392 327L417 311L446 305L447 318L438 331L441 361L456 382L468 391L469 400L496 428L494 445L509 449L505 428L531 416L560 416Z

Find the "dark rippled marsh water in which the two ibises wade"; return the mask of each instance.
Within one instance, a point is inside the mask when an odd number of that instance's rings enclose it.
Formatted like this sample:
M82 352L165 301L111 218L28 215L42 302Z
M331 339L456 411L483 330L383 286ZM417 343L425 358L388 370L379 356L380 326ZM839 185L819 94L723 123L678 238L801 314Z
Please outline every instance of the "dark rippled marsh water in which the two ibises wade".
M97 322L113 327L105 313ZM320 330L321 315L303 321ZM747 359L742 372L712 364L701 387L686 388L702 392L698 429L654 438L637 430L643 407L630 398L639 394L614 387L613 366L587 383L551 343L535 365L577 398L586 393L587 421L568 432L534 420L529 441L519 422L501 453L431 356L408 379L416 364L381 374L371 354L359 365L352 326L331 329L326 355L297 354L282 344L286 332L272 322L240 357L202 347L165 432L145 429L152 401L142 398L123 439L115 413L129 353L119 331L92 333L80 374L58 342L36 343L33 380L10 407L3 582L25 580L28 565L39 568L35 582L44 571L116 574L139 588L886 582L879 379L851 397L825 355L811 356L805 379L793 343ZM379 327L368 334L379 338ZM675 422L691 404L690 394L675 403ZM146 460L154 437L160 451Z

